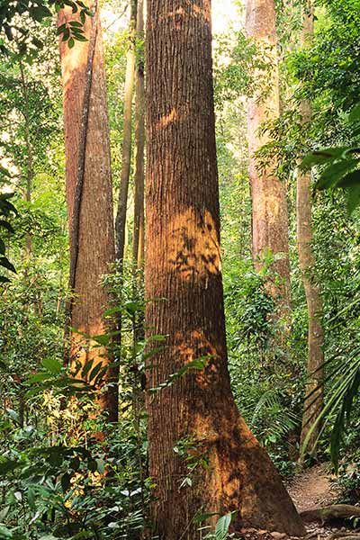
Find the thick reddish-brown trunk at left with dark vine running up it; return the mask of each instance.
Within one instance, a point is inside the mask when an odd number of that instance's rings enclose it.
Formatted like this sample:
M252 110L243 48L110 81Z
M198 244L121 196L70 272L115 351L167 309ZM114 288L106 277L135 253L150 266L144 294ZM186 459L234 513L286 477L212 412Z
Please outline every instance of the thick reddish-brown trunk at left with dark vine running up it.
M70 230L70 288L74 298L67 315L71 332L70 364L94 366L111 363L103 347L94 348L91 337L108 330L103 311L109 294L101 278L114 262L112 178L102 32L96 4L94 17L86 17L87 41L72 49L60 41L64 87L64 128L67 175L67 209ZM58 14L58 25L76 19L70 8ZM81 333L80 333L81 332ZM85 338L90 337L90 338ZM88 375L91 377L91 372ZM116 374L108 370L112 385L99 401L109 418L117 418Z

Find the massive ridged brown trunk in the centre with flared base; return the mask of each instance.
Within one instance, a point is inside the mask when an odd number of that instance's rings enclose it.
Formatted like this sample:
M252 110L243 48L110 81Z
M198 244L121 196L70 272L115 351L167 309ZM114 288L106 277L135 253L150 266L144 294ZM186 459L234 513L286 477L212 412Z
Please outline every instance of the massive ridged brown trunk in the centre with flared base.
M275 467L240 417L229 381L220 269L209 0L149 0L146 328L166 336L148 359L153 519L161 539L200 538L196 512L237 510L235 526L304 530ZM184 441L186 438L187 443ZM182 440L199 464L193 486ZM215 518L214 518L215 519Z

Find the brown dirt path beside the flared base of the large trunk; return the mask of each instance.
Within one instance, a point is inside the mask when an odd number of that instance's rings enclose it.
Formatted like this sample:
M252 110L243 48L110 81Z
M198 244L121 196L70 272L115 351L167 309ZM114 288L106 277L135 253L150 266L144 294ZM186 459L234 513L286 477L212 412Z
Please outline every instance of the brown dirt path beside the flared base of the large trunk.
M299 512L325 507L338 500L339 490L329 464L314 465L297 474L288 486L293 503Z

